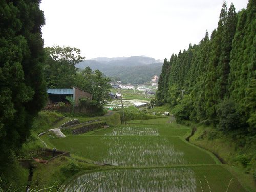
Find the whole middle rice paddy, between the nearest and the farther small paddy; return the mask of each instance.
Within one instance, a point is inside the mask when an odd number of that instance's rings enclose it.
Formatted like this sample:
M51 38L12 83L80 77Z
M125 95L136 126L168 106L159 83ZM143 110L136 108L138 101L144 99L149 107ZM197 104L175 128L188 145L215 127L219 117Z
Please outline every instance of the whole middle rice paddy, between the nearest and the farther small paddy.
M68 136L50 139L59 149L118 166L215 164L215 160L179 137Z

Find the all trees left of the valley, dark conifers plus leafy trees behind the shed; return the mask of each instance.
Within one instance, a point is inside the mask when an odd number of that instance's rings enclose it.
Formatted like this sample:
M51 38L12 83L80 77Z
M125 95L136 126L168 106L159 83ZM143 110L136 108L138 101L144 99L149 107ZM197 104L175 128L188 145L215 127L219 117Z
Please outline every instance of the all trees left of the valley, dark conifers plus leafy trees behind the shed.
M22 147L31 140L33 122L46 105L47 88L77 86L93 94L83 104L103 111L110 100L110 81L98 70L78 72L80 50L47 47L41 36L44 12L38 0L0 3L0 191L16 191L27 183L28 171L18 163ZM15 189L15 190L14 190Z

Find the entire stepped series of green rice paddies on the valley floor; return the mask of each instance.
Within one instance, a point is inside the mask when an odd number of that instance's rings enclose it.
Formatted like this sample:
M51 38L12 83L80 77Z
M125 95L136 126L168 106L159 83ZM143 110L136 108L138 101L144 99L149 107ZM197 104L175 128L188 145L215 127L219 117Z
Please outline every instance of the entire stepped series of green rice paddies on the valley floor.
M214 155L185 141L190 131L168 118L135 120L50 142L59 150L113 165L77 177L65 191L245 191Z

